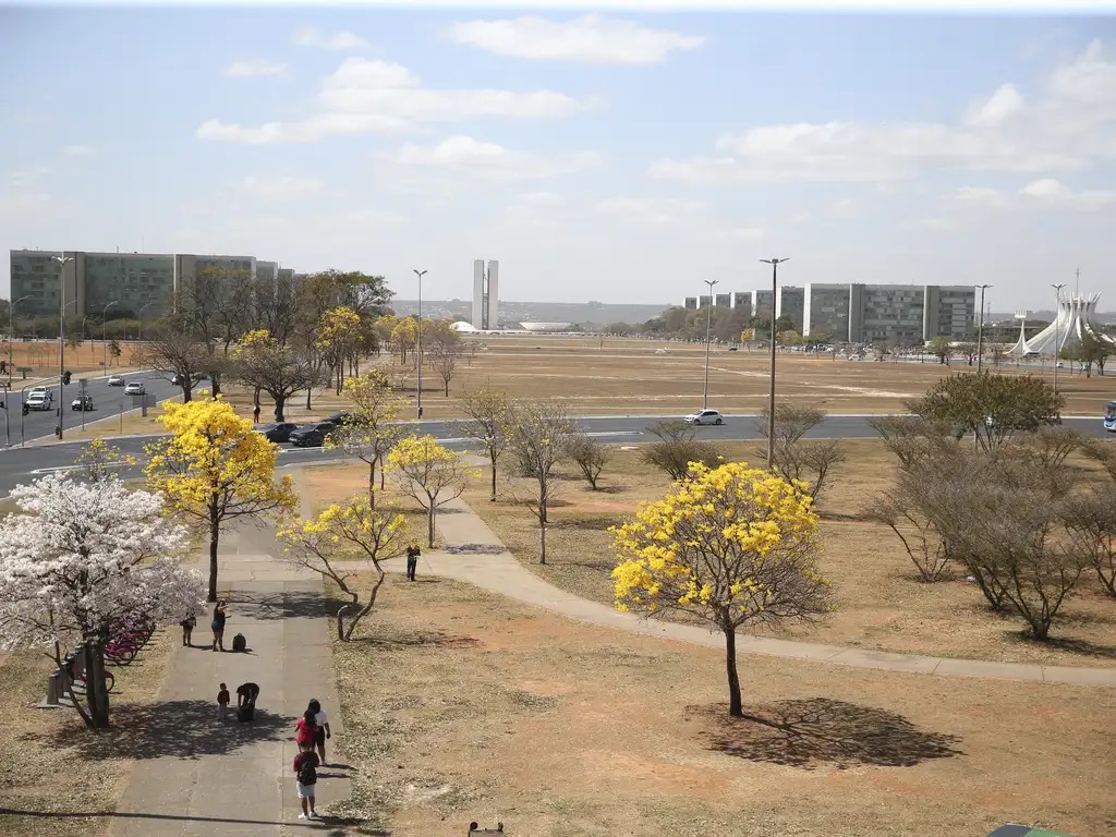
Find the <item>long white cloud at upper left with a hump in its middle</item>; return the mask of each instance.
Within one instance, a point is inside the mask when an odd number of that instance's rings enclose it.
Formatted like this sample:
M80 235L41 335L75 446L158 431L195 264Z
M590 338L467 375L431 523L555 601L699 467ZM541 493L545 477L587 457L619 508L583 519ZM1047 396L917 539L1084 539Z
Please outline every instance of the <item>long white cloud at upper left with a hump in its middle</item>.
M330 136L389 134L423 123L557 118L594 105L551 90L431 89L402 65L348 58L323 80L317 114L299 122L258 126L208 119L196 136L249 144L315 142Z

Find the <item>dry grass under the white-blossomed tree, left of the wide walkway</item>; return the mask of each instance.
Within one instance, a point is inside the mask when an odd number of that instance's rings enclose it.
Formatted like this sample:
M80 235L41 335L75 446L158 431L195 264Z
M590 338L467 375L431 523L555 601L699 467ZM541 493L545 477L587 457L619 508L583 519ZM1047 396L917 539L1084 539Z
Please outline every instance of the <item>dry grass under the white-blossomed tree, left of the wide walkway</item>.
M54 663L41 653L16 652L0 663L0 694L10 708L0 770L0 834L96 837L105 833L109 818L103 815L116 808L132 771L133 718L157 699L167 656L179 642L176 627L161 628L131 665L112 668L113 729L100 732L87 730L71 709L32 709L46 695L54 671ZM90 760L90 751L100 756Z

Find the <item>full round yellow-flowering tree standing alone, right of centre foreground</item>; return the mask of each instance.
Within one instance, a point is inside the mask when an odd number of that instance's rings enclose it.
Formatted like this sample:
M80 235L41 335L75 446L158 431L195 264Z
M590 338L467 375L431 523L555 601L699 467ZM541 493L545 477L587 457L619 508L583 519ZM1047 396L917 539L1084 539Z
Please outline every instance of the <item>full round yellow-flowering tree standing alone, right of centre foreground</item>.
M816 568L818 518L805 483L743 462L693 463L635 519L612 529L616 607L642 615L686 613L724 634L729 714L740 718L737 632L829 612Z

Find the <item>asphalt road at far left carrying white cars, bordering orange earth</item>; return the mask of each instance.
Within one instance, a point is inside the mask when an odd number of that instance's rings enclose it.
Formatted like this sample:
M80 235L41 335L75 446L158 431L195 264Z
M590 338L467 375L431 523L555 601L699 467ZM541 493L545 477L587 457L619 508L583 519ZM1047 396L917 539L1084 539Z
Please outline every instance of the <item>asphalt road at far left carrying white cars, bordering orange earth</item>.
M105 416L116 415L122 410L127 412L128 410L135 410L140 406L140 398L133 397L131 395L124 395L123 386L109 386L107 375L97 375L93 377L96 373L89 373L88 375L78 376L75 375L70 379L70 384L64 387L65 396L64 403L61 404L61 419L62 419L62 432L70 430L73 427L81 426L81 413L75 413L70 410L70 402L77 397L80 392L79 381L84 377L86 382L86 393L93 397L93 410L85 414L86 421L95 422L98 419L104 419ZM181 395L182 389L173 385L170 378L158 375L158 373L153 372L136 372L129 373L123 376L125 381L133 382L138 381L144 384L147 389L147 404L154 405L162 401L163 398L169 398L172 395ZM50 386L50 392L54 394L55 404L52 410L32 410L26 416L22 410L22 400L26 398L26 392L23 389L30 389L35 384L27 384L25 382L16 378L12 381L12 391L10 395L4 400L6 406L9 407L6 411L6 424L0 426L0 441L10 442L10 444L18 445L21 441L30 441L32 439L39 439L41 436L52 435L55 427L58 425L58 378L55 378L54 385Z

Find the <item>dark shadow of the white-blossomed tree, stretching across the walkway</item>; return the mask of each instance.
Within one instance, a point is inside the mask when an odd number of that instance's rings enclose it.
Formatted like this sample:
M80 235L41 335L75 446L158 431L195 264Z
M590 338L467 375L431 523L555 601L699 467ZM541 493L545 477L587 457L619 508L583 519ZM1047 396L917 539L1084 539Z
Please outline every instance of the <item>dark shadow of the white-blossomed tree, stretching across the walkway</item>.
M263 695L266 700L267 695ZM78 758L158 759L166 756L193 759L223 756L257 741L279 741L294 737L292 715L257 708L256 720L237 721L237 708L229 718L217 720L217 704L210 701L162 701L129 706L114 713L113 728L99 732L62 727L56 732L32 733L26 738L50 747L76 747Z

